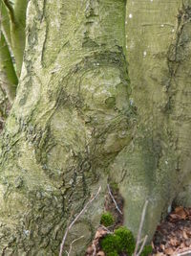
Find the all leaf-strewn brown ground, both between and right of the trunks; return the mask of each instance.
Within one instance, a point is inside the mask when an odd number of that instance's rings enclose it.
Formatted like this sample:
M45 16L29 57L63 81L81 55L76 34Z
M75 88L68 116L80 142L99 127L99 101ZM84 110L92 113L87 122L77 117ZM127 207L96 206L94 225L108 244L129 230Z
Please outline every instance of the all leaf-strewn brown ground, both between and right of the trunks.
M123 199L114 193L115 201L108 194L106 197L105 210L109 211L115 217L115 227L122 225L123 215L119 210L123 208ZM117 205L117 207L116 207ZM96 236L93 243L88 247L86 256L107 256L101 250L100 241L108 233L111 233L110 228L100 225L96 231ZM164 221L157 227L152 242L153 256L191 256L191 208L176 207ZM128 256L122 253L120 256Z

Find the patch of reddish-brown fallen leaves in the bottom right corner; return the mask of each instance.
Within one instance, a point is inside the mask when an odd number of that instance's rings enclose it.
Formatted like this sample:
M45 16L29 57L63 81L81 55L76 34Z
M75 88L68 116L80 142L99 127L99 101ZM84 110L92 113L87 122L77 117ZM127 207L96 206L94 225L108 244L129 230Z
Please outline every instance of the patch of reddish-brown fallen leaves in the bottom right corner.
M177 207L161 222L153 239L153 255L191 255L191 208Z

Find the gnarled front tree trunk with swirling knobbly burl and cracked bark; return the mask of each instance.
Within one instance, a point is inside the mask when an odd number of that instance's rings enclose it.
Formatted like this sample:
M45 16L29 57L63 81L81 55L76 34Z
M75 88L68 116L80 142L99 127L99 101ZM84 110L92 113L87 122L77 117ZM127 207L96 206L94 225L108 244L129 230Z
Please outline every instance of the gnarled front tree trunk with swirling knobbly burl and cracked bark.
M103 212L108 166L131 140L125 1L30 1L26 34L1 137L1 254L57 255L70 216L101 184L67 241L83 232L72 255L84 255Z

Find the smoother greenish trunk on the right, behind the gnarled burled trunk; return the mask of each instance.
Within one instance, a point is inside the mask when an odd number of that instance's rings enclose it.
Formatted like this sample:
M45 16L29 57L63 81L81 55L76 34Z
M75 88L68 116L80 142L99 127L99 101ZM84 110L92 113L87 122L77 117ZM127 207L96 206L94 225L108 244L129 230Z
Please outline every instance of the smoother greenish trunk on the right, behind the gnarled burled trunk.
M127 1L126 10L130 101L138 126L117 155L112 176L120 182L125 223L134 232L149 199L145 232L151 238L172 203L191 203L191 1Z

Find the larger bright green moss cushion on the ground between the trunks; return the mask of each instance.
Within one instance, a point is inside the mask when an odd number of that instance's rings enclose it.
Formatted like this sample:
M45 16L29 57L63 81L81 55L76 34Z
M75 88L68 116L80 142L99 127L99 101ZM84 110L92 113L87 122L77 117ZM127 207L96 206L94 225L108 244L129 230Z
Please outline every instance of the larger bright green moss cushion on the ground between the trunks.
M115 230L114 234L109 234L104 237L100 242L102 250L106 255L111 253L126 252L128 255L132 255L135 249L135 239L132 232L126 227L119 227Z

